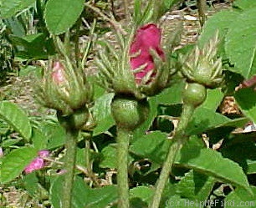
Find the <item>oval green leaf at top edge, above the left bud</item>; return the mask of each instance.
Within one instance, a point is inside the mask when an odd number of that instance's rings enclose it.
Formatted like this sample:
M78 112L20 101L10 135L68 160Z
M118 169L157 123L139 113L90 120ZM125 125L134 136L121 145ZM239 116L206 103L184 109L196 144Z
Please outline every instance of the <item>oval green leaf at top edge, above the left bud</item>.
M45 23L49 32L61 34L71 28L84 9L84 0L49 0L45 8Z

